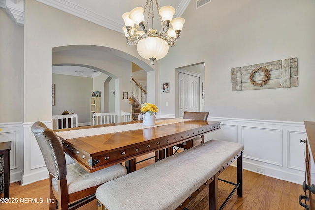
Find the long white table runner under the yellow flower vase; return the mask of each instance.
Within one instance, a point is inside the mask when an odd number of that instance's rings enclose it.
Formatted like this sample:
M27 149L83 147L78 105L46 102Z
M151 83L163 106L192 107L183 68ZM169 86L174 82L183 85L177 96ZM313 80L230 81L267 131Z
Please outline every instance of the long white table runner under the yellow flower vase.
M109 127L97 127L97 128L87 128L79 130L69 130L69 131L58 131L56 134L63 139L74 139L79 137L95 136L109 133L125 132L131 130L140 130L144 128L158 127L162 125L175 124L179 122L190 121L191 119L174 118L167 120L157 120L156 124L153 126L144 126L142 122L126 125L116 125Z

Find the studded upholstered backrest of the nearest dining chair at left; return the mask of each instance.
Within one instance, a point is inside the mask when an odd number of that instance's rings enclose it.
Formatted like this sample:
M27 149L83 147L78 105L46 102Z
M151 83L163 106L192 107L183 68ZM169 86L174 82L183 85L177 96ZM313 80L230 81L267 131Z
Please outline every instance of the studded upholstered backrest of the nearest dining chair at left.
M35 122L31 128L38 142L49 173L57 180L67 175L63 145L57 134L42 122Z

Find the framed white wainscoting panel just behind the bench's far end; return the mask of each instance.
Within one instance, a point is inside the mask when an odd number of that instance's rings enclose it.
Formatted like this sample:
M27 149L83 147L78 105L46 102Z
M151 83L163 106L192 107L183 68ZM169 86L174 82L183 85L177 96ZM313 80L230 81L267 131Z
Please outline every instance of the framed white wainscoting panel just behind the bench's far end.
M282 130L242 126L242 143L246 145L244 157L259 162L282 166Z

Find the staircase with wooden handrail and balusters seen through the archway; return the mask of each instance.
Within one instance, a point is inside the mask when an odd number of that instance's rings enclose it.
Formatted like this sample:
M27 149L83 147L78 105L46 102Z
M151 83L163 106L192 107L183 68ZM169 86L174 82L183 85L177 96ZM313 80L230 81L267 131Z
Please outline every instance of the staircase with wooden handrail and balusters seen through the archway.
M132 98L129 99L132 105L132 120L138 120L140 111L140 105L147 102L147 91L132 78Z

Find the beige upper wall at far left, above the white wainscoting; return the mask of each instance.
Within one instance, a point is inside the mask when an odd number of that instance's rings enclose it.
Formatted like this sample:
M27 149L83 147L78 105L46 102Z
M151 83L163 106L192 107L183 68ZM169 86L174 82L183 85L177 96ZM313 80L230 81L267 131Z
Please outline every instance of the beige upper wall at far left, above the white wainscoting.
M23 121L23 27L0 8L0 123Z

